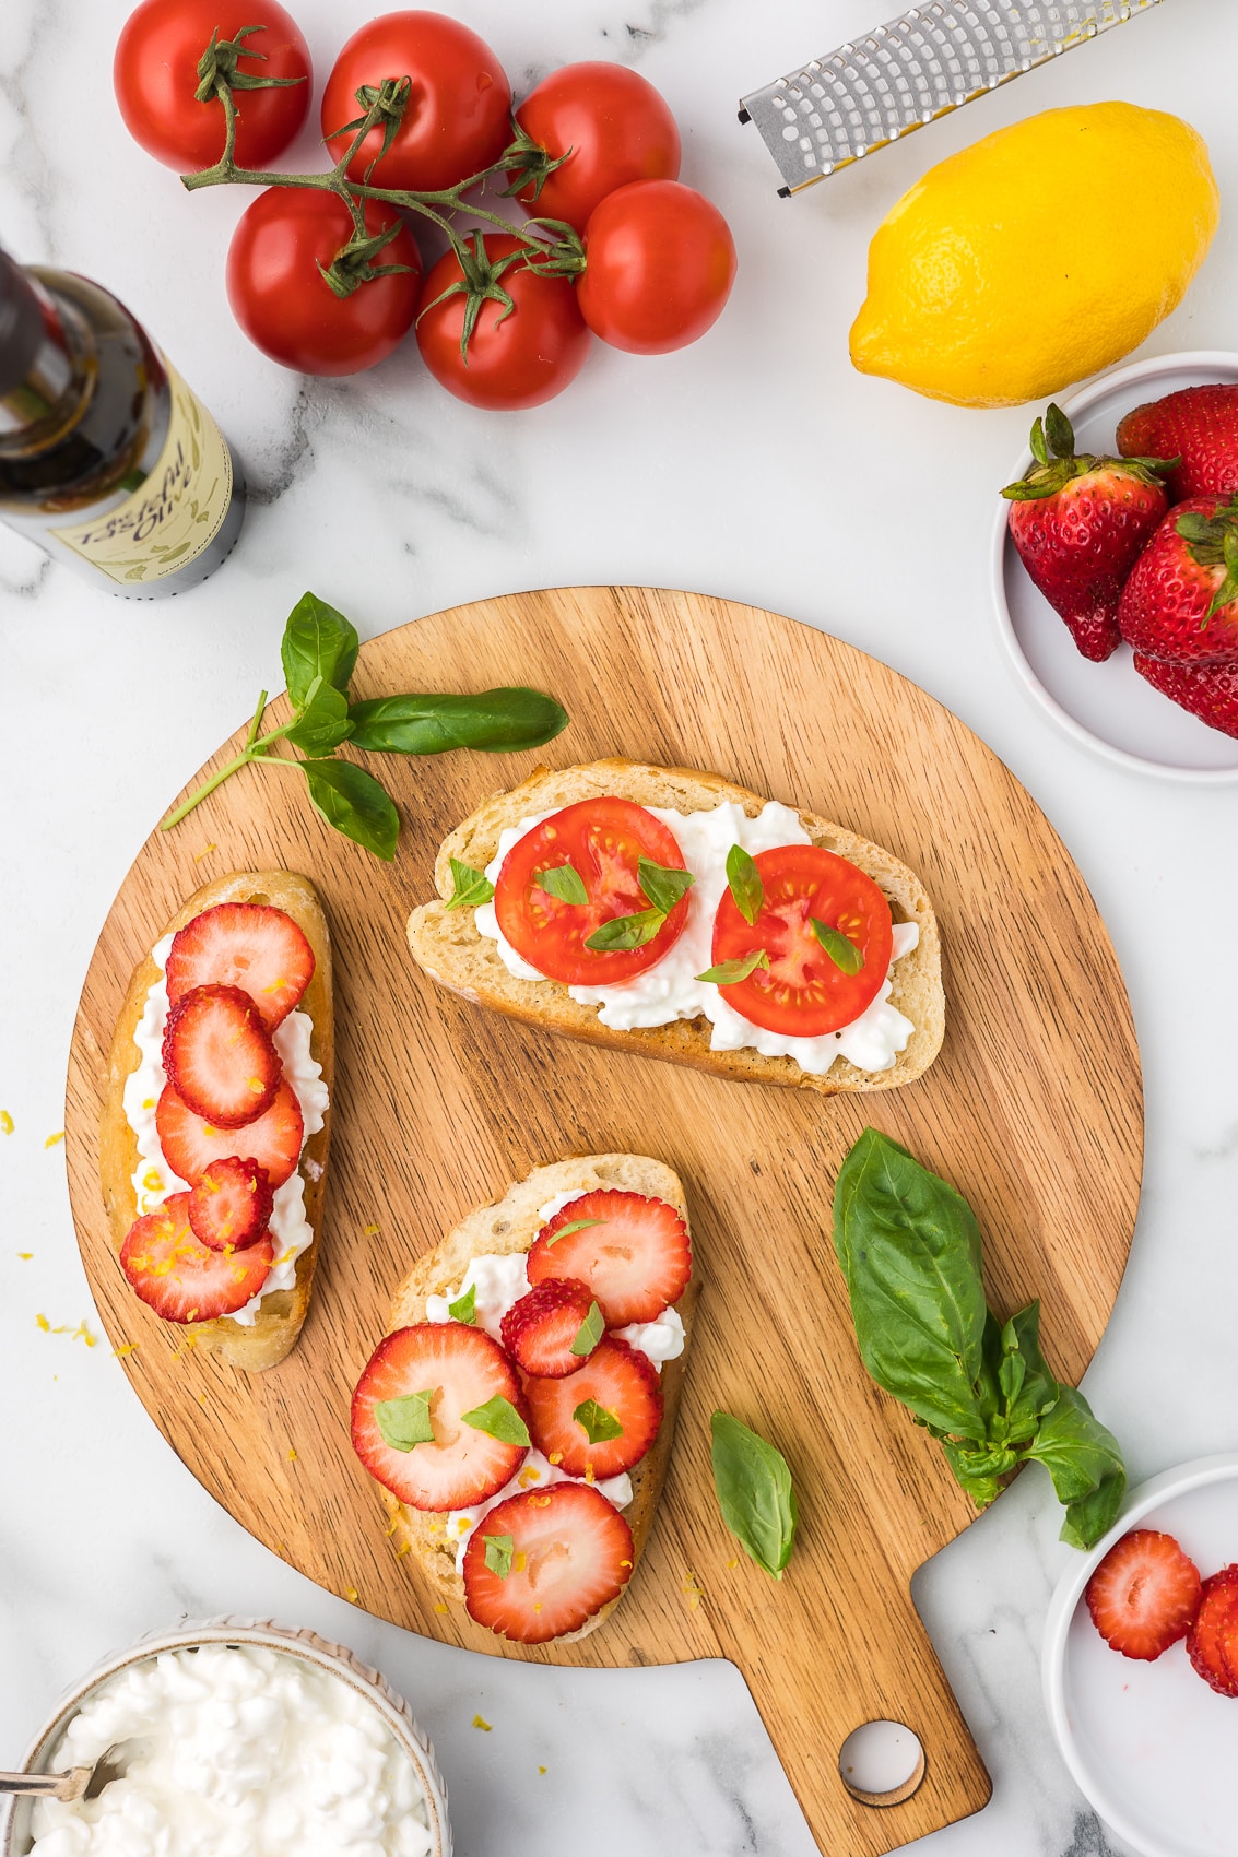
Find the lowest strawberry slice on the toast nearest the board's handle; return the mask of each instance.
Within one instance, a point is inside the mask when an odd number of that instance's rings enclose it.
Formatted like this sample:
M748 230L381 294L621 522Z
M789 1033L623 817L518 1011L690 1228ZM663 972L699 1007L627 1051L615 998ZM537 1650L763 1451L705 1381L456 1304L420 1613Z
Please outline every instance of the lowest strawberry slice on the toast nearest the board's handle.
M498 1543L489 1549L489 1564L487 1541ZM580 1630L617 1599L632 1577L632 1530L597 1489L530 1489L498 1502L472 1534L465 1604L500 1638L545 1643Z

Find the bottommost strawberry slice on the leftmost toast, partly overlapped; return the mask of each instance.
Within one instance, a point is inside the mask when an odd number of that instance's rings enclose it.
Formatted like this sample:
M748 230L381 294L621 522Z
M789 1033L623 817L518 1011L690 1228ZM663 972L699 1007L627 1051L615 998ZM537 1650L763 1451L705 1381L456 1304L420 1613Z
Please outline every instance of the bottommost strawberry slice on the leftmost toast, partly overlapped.
M271 1268L271 1240L247 1252L212 1252L193 1237L190 1194L175 1192L128 1227L121 1270L165 1322L212 1322L234 1315L262 1289Z

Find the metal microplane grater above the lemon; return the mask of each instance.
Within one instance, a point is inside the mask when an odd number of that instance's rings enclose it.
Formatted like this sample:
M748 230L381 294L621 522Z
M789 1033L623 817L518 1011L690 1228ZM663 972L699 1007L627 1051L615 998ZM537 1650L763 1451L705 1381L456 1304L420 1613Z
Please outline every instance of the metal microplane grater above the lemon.
M823 180L1160 0L931 0L740 102L779 165L779 193Z

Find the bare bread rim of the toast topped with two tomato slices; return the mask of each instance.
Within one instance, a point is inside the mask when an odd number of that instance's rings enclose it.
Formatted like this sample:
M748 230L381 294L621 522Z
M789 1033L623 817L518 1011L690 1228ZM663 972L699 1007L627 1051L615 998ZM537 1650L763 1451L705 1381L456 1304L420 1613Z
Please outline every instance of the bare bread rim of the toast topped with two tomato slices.
M764 1057L760 1051L712 1051L710 1021L675 1019L669 1025L613 1031L602 1025L597 1006L578 1005L558 980L520 980L504 967L493 940L478 934L474 910L448 910L452 895L452 858L481 871L498 851L498 838L507 826L520 825L535 813L576 800L615 795L639 806L662 806L671 812L708 812L725 800L736 800L747 817L755 817L766 800L747 787L736 787L719 774L693 773L686 767L643 767L638 761L591 761L586 767L552 771L535 769L511 793L498 793L465 819L444 841L435 862L435 886L441 901L424 903L409 917L409 947L416 964L454 993L474 1005L493 1006L513 1019L541 1025L567 1038L613 1045L621 1051L639 1051L645 1057L673 1064L691 1064L749 1083L781 1083L801 1090L820 1090L836 1096L842 1090L892 1090L911 1083L933 1062L946 1029L944 993L941 986L941 940L937 917L920 878L868 839L846 832L829 819L801 812L799 823L814 845L823 845L859 865L889 899L894 921L915 921L920 928L918 947L894 962L890 1005L898 1006L915 1032L905 1051L890 1070L859 1070L848 1058L835 1058L823 1077L799 1068L794 1057Z

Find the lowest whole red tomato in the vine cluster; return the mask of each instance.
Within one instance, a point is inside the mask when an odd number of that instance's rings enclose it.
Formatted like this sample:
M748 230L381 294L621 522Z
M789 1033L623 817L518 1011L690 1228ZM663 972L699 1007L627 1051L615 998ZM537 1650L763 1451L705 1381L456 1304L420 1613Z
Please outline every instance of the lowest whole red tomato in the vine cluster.
M520 240L502 234L485 243L491 258L506 258L519 247ZM493 412L541 407L561 394L584 368L593 340L576 306L571 279L539 277L526 266L504 271L500 282L515 310L504 316L502 303L483 303L465 360L459 351L465 297L435 303L463 275L459 258L448 251L426 279L426 308L416 323L416 345L435 381L470 407Z

